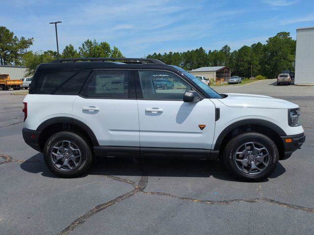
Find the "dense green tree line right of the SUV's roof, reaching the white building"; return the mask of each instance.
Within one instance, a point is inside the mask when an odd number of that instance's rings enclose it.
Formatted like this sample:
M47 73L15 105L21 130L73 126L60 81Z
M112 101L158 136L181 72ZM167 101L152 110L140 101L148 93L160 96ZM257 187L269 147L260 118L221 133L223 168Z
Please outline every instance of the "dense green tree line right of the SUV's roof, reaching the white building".
M268 38L266 44L260 42L243 46L231 51L228 45L220 50L209 50L200 47L184 52L154 53L147 58L155 58L168 65L176 65L185 70L194 70L208 66L228 66L232 75L250 77L263 75L276 78L283 70L294 71L296 41L288 32L279 32Z

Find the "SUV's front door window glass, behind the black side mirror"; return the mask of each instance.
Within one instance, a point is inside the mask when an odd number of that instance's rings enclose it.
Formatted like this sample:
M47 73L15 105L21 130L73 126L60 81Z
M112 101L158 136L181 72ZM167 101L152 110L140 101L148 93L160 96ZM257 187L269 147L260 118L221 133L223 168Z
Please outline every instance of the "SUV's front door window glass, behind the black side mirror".
M183 100L191 87L177 75L166 71L139 71L144 99Z

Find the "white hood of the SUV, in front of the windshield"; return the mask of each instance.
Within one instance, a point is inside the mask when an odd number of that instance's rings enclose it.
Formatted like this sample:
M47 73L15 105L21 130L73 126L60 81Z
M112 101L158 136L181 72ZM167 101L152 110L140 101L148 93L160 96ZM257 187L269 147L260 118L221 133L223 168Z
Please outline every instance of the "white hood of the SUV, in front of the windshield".
M228 97L219 99L229 107L293 109L299 106L284 99L258 94L227 93Z

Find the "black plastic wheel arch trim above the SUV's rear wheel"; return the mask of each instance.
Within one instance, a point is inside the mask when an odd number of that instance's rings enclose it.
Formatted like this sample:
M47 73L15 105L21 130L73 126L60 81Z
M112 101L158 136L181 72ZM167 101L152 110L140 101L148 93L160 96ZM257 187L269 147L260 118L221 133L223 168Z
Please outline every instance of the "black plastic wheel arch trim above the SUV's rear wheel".
M69 117L50 118L41 123L37 127L36 131L41 132L38 138L41 150L44 149L44 146L47 140L50 138L50 136L59 131L73 131L85 137L85 139L89 141L89 143L92 146L99 146L99 143L94 132L85 123L75 118Z

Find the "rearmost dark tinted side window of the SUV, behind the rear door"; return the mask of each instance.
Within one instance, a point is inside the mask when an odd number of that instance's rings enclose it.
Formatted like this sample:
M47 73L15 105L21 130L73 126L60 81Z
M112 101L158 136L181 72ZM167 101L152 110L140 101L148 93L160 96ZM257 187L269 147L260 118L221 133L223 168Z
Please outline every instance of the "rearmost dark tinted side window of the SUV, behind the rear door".
M36 74L35 94L52 94L61 84L75 74L75 71L42 71Z

